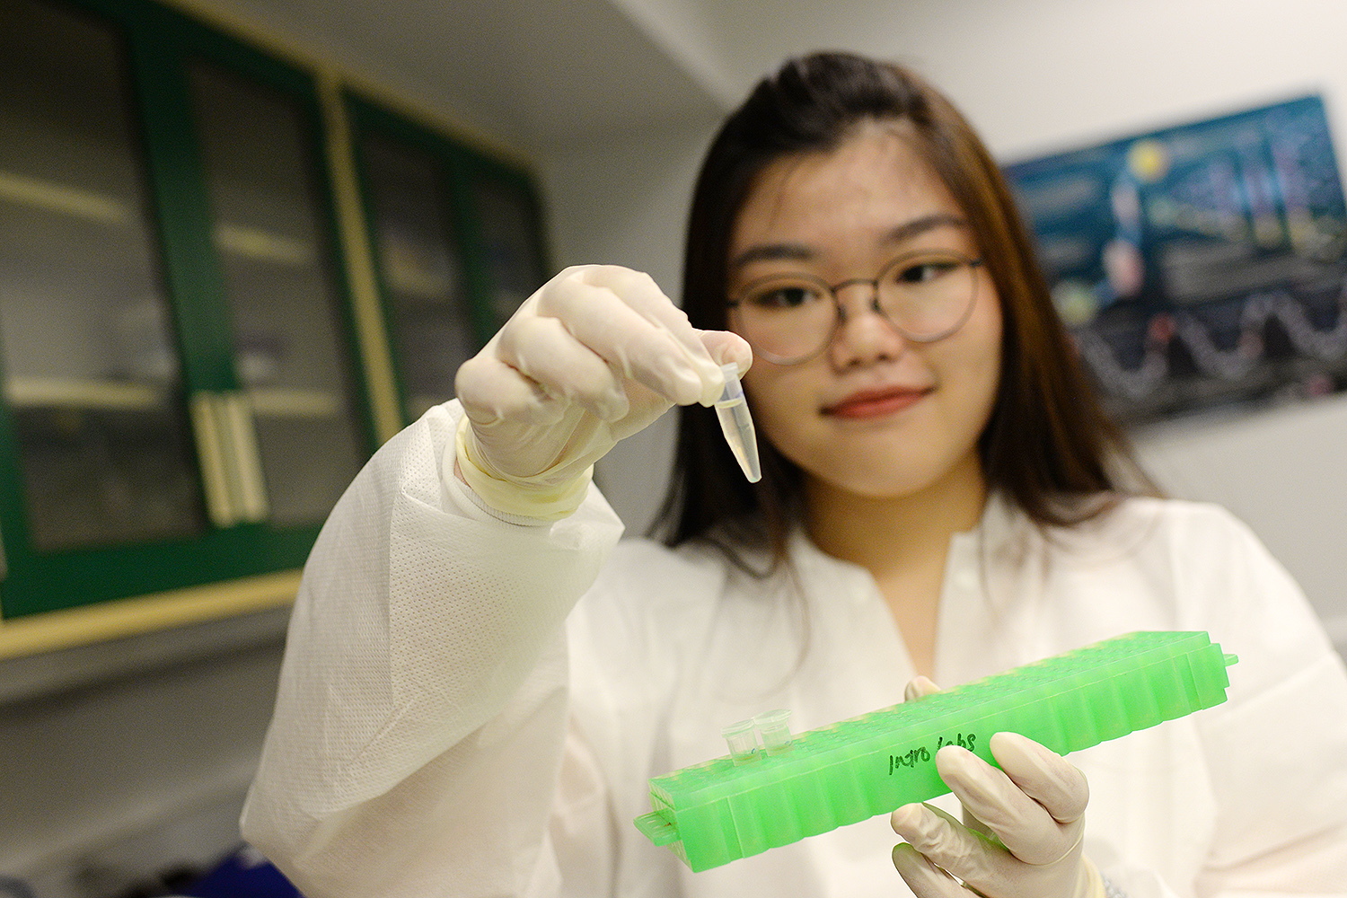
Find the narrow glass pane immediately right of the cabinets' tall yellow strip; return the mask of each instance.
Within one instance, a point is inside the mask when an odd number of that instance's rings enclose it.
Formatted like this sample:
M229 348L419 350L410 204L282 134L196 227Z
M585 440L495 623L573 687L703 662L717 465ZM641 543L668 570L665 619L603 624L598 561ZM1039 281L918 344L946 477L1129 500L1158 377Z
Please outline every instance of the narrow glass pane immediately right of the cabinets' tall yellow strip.
M404 413L420 417L454 396L454 376L478 339L442 160L366 133L360 143L366 206Z

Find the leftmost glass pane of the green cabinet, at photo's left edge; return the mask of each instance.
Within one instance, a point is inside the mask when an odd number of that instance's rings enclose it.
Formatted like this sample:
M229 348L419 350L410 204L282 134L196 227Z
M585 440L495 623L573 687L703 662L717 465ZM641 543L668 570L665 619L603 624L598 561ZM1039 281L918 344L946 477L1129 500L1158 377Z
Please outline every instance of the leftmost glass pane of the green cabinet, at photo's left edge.
M127 48L42 0L7 0L3 18L0 354L26 544L197 534L207 524Z

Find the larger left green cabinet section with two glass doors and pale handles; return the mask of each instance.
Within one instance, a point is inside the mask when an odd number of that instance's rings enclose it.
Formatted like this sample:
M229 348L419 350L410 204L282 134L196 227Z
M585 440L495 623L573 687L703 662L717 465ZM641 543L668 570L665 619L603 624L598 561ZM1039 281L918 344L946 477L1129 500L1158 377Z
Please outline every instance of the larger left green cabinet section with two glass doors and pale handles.
M156 5L7 18L4 617L300 565L374 442L311 79Z

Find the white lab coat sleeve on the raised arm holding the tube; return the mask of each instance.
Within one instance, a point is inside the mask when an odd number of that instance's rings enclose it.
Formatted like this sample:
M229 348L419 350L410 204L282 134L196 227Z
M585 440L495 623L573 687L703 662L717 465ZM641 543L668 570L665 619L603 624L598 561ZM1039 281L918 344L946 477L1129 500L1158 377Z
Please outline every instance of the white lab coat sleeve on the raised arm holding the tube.
M306 898L559 891L563 621L621 522L593 489L539 526L463 501L461 413L380 448L304 568L242 832Z

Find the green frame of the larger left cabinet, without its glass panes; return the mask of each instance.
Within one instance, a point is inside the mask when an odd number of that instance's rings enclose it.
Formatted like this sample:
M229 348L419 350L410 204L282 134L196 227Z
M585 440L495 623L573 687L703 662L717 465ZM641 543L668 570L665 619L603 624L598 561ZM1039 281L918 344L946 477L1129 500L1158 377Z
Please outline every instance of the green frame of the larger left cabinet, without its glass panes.
M186 407L194 396L237 394L234 346L225 300L220 249L213 240L210 198L195 133L187 81L189 62L201 59L284 94L306 123L308 176L319 202L323 246L338 316L338 347L349 373L348 390L358 431L361 458L377 446L370 408L370 386L356 337L348 264L338 238L334 191L326 164L326 120L317 79L308 71L267 55L241 40L148 0L44 0L77 15L93 18L117 32L128 62L131 113L139 127L145 171L150 223L156 238L160 276L175 319ZM342 400L345 401L345 399ZM203 464L201 447L198 475ZM9 404L0 404L0 534L5 571L0 582L0 657L22 653L7 648L4 633L30 615L58 613L135 596L205 596L220 587L244 591L249 584L284 582L292 596L294 571L318 536L322 522L273 526L242 521L210 526L198 537L167 539L38 552L31 548L24 486ZM40 501L40 497L32 497ZM237 582L233 587L230 582ZM268 588L263 588L265 592ZM256 592L256 588L253 588ZM198 598L199 598L198 596ZM152 602L152 600L151 600ZM244 602L244 606L256 599ZM171 615L170 615L171 617ZM191 619L191 614L187 614ZM23 627L31 629L31 627ZM12 630L11 630L12 631Z

